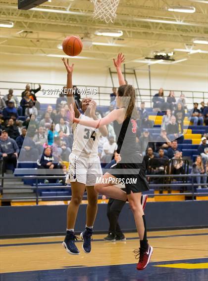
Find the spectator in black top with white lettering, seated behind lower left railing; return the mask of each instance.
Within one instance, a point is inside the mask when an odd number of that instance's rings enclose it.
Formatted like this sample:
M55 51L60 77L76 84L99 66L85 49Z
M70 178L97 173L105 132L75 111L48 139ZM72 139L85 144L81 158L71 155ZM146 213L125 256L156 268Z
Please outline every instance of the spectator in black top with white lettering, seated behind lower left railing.
M41 157L38 168L42 169L44 175L47 175L47 170L49 170L49 169L52 170L52 169L61 169L62 168L61 164L59 164L58 159L52 155L52 149L50 147L46 147L46 149L44 150L44 153ZM55 174L55 173L53 173L53 174ZM49 183L49 182L54 182L54 180L53 179L44 180L44 183Z

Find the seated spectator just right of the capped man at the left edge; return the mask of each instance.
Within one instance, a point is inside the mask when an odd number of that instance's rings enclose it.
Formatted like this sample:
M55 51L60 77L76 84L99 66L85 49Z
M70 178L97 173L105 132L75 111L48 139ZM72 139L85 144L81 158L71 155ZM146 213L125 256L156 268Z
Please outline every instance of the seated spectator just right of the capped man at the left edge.
M16 143L19 147L19 161L37 161L39 152L34 141L26 136L27 129L22 128L22 134L16 138Z

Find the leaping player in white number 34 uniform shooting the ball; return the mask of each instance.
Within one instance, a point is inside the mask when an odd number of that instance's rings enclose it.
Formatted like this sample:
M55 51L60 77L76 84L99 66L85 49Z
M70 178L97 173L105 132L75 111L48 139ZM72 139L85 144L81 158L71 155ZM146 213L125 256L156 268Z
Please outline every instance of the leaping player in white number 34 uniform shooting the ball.
M73 66L70 66L62 59L67 70L67 100L68 106L73 104L76 118L85 120L98 120L96 117L96 102L91 98L84 98L81 102L84 115L79 112L74 102L70 89L72 89ZM106 126L99 129L86 127L73 123L74 142L72 153L69 156L69 171L66 182L71 183L72 198L67 209L67 228L63 246L70 254L79 254L75 245L74 226L77 218L79 205L82 201L85 189L87 190L87 221L84 232L81 233L83 240L83 250L85 253L91 251L91 237L93 234L93 224L98 210L98 193L94 189L96 177L103 175L100 159L98 156L98 142L101 134L107 136Z

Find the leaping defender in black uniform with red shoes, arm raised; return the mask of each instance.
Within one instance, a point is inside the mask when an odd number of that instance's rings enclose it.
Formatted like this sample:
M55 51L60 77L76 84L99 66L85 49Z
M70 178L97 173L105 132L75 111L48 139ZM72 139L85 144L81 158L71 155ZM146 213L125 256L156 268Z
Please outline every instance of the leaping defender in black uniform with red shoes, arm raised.
M83 120L75 118L73 106L70 106L70 118L75 123L94 128L114 122L118 144L117 152L121 156L121 161L111 169L111 174L108 172L103 175L104 182L96 184L95 190L110 198L123 201L128 199L140 238L140 250L134 251L136 258L139 257L137 269L143 270L150 262L153 247L148 244L145 215L141 205L141 192L149 188L144 174L143 157L136 146L135 89L132 85L126 85L122 75L121 63L124 61L124 56L120 53L117 60L113 61L120 84L116 93L118 109L111 111L101 120ZM124 180L126 193L115 186L116 179ZM133 184L132 180L135 180Z

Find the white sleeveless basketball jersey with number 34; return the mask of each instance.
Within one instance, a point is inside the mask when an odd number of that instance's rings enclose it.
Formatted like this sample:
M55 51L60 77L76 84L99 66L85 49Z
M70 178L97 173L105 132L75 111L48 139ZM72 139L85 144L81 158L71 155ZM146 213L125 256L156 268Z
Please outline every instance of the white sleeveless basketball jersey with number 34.
M93 120L92 118L80 115L80 119ZM72 124L74 141L72 146L72 153L86 156L95 157L98 155L98 143L101 136L99 129L86 127L77 123Z

